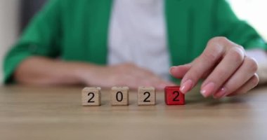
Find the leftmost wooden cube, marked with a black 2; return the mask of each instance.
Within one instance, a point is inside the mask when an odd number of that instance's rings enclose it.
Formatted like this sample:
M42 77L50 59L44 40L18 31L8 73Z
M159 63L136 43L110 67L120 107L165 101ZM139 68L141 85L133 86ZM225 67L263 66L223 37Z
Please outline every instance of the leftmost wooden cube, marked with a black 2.
M84 87L82 90L83 106L100 106L101 105L101 88L100 87Z

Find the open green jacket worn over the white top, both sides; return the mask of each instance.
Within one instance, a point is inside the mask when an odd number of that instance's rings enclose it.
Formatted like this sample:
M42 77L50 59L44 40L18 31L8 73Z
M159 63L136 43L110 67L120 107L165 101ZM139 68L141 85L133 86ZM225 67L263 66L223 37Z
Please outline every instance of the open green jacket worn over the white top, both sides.
M106 64L112 0L53 0L34 16L4 59L4 83L13 81L20 62L32 55ZM267 45L239 20L224 0L165 0L171 65L192 61L214 36L245 48Z

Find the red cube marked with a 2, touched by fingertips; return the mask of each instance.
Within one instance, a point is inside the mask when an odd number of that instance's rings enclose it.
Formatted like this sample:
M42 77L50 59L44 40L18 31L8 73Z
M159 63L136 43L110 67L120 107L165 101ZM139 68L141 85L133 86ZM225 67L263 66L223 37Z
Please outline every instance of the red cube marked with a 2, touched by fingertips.
M167 105L185 104L185 95L180 91L179 86L165 87L165 103Z

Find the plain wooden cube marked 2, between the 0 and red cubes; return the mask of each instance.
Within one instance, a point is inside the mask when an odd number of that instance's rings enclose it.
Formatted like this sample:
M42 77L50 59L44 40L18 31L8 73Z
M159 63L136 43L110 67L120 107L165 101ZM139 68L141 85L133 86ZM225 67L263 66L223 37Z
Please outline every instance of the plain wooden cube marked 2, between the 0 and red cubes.
M156 94L155 87L138 87L138 105L155 105Z

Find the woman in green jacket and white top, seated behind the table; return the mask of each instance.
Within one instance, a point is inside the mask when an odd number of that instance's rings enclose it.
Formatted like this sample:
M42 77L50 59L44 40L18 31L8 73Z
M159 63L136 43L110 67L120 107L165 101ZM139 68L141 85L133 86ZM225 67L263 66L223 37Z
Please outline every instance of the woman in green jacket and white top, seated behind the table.
M246 52L266 48L224 0L53 0L8 52L5 83L162 89L172 66L183 93L204 78L202 95L221 98L258 84Z

